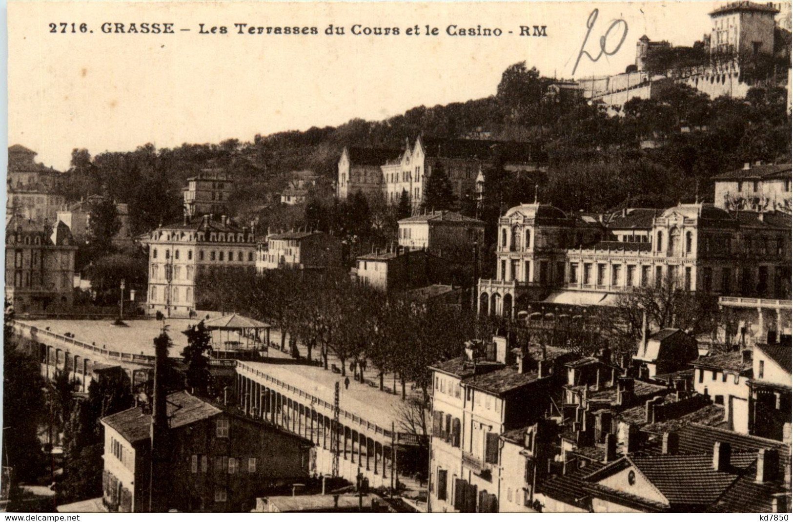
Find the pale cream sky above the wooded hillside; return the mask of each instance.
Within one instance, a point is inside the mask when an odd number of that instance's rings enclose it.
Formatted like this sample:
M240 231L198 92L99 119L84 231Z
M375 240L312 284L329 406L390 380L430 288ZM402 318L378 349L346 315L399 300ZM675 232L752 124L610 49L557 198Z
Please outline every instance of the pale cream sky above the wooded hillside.
M542 75L571 78L582 45L596 57L605 34L605 47L615 52L596 61L583 56L575 76L622 72L634 63L640 36L691 45L709 32L707 13L716 6L9 2L9 144L32 148L39 161L65 170L73 148L96 155L146 143L172 148L251 141L256 134L335 126L354 117L383 120L414 106L495 94L502 71L522 60ZM584 44L594 9L597 18ZM60 32L60 22L67 23L67 33ZM172 23L175 33L103 33L105 22L125 29L132 22ZM207 32L224 26L227 33L200 34L200 24ZM235 24L316 27L319 34L238 34ZM326 36L329 24L345 34ZM353 25L396 27L400 34L354 35ZM406 34L415 25L420 34ZM439 34L425 35L426 25ZM450 36L450 25L503 33ZM548 36L519 36L520 25L546 25Z

